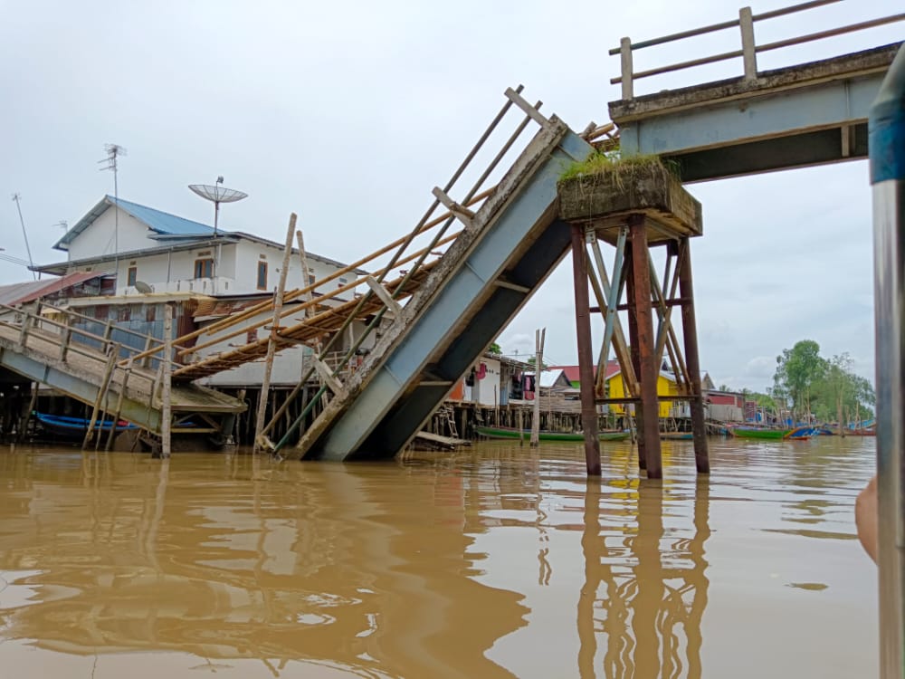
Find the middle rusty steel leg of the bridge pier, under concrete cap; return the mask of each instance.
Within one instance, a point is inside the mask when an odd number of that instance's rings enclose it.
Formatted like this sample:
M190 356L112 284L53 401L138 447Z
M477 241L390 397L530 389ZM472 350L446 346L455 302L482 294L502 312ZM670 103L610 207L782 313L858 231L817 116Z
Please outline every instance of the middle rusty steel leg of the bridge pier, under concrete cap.
M657 365L656 346L653 337L653 305L651 302L651 270L650 252L647 247L647 230L644 215L630 215L628 218L628 237L632 243L632 293L629 306L635 314L637 322L637 344L640 371L638 381L641 382L641 403L635 408L643 413L638 424L638 440L644 441L644 462L647 464L647 478L662 478L662 459L660 451L660 404L657 401L657 378L660 377L660 366ZM642 429L643 426L643 429Z

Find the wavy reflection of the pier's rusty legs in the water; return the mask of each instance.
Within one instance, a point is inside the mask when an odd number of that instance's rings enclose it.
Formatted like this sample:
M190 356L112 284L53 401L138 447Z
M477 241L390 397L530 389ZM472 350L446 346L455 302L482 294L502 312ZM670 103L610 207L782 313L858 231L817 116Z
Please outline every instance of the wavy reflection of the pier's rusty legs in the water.
M691 538L676 539L664 531L659 482L635 489L636 530L623 536L602 534L600 485L589 480L585 495L579 676L700 677L700 624L709 582L704 574L710 537L708 478L695 486ZM616 546L608 547L608 539Z

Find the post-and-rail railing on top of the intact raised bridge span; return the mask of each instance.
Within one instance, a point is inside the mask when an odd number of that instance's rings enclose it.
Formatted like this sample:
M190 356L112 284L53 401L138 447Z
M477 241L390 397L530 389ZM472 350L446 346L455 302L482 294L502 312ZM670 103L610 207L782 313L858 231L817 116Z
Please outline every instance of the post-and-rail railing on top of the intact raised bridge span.
M671 33L670 35L663 35L659 38L643 40L638 43L633 43L631 38L623 38L620 41L619 47L615 47L614 49L611 49L609 51L611 56L615 54L620 55L622 66L622 74L617 78L612 78L610 80L610 83L614 85L622 83L622 99L629 100L634 98L634 81L641 80L642 78L649 78L653 75L661 75L662 73L682 71L684 69L694 68L695 66L703 66L708 63L722 62L728 59L738 59L739 57L742 59L744 66L744 78L746 80L754 80L757 78L757 54L759 53L778 50L783 47L791 47L792 45L797 44L811 43L815 40L823 40L824 38L834 37L835 35L854 33L856 31L862 31L868 28L873 28L875 26L893 24L895 22L905 20L905 14L891 14L879 19L862 21L857 24L848 24L845 26L840 26L838 28L818 31L816 33L807 33L805 35L799 35L794 38L788 38L786 40L777 40L771 43L757 44L755 40L754 24L758 21L775 19L779 16L795 14L797 12L803 12L805 10L814 9L815 7L820 7L823 5L833 5L834 3L838 2L842 2L842 0L813 0L813 2L801 3L799 5L790 5L781 9L763 12L761 14L753 14L750 7L742 7L740 10L738 10L737 19L720 22L719 24L710 24L709 26L691 29L690 31ZM636 50L642 50L646 47L672 43L675 41L684 40L686 38L692 38L698 35L704 35L706 33L715 33L717 31L724 31L726 29L736 27L740 29L741 34L741 45L738 50L732 50L730 52L723 52L719 54L711 54L710 56L704 56L698 59L690 59L684 62L675 62L666 66L660 66L658 68L653 68L646 71L634 71L633 53Z

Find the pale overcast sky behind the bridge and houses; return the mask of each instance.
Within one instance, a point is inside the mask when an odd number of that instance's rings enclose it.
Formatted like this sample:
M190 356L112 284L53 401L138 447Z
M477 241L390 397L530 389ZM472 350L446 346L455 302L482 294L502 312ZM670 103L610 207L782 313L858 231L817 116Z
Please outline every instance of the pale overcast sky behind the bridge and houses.
M761 0L765 12L792 0ZM573 129L608 120L619 98L607 50L729 20L738 4L605 2L61 2L0 0L0 247L25 257L13 192L36 263L61 220L105 193L105 143L128 149L119 196L210 223L186 188L249 198L221 225L278 242L291 211L307 247L343 261L410 230L519 83ZM901 11L845 0L757 24L758 42ZM905 24L764 53L762 69L900 40ZM738 49L737 31L645 50L637 69ZM691 50L691 53L689 52ZM650 53L650 54L647 54ZM639 82L639 93L738 75L726 62ZM864 161L689 186L705 235L692 244L702 367L715 382L762 389L776 354L814 339L873 378L872 217ZM2 205L5 204L5 207ZM24 268L0 263L0 283ZM571 263L564 261L500 337L576 361ZM595 330L595 336L602 332Z

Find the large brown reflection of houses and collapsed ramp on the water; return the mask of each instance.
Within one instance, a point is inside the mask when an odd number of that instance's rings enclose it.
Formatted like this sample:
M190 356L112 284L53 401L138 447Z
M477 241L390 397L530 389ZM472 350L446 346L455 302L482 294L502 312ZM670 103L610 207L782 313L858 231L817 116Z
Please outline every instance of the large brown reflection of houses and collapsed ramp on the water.
M452 475L403 489L388 483L393 466L233 458L223 469L245 477L243 492L178 458L85 454L78 486L52 483L71 466L57 463L3 458L21 502L0 503L0 570L42 568L21 579L40 606L0 611L16 638L72 654L259 658L278 674L326 659L380 675L511 676L484 651L525 611L468 577ZM404 500L387 503L394 485Z

